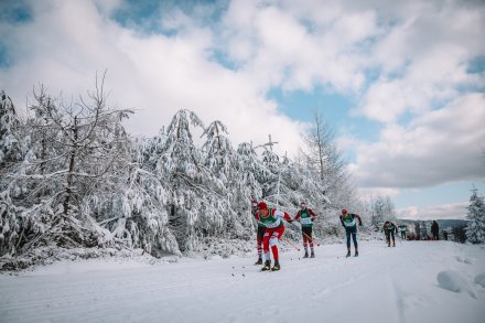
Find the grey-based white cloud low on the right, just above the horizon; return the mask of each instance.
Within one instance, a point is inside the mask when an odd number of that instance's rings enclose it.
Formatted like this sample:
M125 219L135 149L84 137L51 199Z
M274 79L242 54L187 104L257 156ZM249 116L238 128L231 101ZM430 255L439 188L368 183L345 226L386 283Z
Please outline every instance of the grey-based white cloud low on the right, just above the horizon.
M485 97L465 95L409 126L387 125L378 142L357 143L357 161L351 169L368 187L420 187L484 179L484 120Z

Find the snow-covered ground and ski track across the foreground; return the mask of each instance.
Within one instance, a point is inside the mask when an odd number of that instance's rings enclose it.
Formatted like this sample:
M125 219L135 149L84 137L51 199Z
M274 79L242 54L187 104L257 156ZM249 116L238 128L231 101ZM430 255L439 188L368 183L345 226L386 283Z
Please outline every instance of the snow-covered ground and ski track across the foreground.
M0 322L485 322L485 247L362 241L281 254L175 263L63 261L0 276Z

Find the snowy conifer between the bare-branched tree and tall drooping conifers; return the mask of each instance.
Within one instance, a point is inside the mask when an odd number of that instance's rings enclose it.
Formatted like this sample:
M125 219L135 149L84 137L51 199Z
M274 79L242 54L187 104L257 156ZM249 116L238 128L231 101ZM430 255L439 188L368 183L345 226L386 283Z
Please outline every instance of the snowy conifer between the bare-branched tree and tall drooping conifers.
M162 129L159 136L134 144L126 189L114 198L115 204L122 207L106 220L112 222L110 229L115 228L117 236L125 237L128 246L142 248L155 257L180 254L175 236L169 228L169 185L155 175L164 140Z

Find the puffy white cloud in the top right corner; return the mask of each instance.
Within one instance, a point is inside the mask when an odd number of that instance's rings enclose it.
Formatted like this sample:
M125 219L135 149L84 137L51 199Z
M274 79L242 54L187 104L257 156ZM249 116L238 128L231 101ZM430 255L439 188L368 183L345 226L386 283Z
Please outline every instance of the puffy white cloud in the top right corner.
M483 75L466 72L467 63L485 53L477 42L484 10L460 4L411 1L406 14L394 19L373 50L369 61L380 77L364 95L360 114L395 122L406 111L419 116L456 98L460 88L484 86Z

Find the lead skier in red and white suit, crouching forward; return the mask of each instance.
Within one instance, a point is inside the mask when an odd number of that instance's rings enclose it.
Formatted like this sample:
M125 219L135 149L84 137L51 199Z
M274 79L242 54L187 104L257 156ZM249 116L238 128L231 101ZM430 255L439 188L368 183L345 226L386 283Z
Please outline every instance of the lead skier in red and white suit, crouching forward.
M262 250L265 251L265 266L262 271L267 270L280 270L280 261L278 256L278 241L281 239L284 233L284 225L282 219L292 222L293 219L285 212L278 211L276 208L268 208L265 202L258 203L258 215L256 218L266 226L265 236L262 239ZM269 254L269 247L274 258L274 266L271 268L271 256Z

